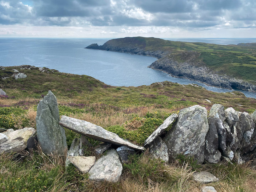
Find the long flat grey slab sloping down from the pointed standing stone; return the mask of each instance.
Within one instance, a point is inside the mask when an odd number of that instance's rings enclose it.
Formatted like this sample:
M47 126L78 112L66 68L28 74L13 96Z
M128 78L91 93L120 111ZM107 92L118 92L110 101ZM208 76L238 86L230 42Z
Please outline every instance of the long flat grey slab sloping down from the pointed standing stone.
M73 130L76 133L85 135L92 139L96 139L106 143L113 143L116 145L123 145L135 150L144 150L144 147L135 145L121 137L117 134L107 131L100 126L93 123L82 121L80 119L75 119L67 116L62 116L59 122L60 125Z

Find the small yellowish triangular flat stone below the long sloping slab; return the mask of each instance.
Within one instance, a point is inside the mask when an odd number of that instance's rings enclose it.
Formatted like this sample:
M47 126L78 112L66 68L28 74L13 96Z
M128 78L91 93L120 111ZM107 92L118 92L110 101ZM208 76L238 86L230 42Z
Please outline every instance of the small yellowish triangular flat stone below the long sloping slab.
M82 174L87 173L91 167L95 164L95 156L68 156L68 160L82 172Z

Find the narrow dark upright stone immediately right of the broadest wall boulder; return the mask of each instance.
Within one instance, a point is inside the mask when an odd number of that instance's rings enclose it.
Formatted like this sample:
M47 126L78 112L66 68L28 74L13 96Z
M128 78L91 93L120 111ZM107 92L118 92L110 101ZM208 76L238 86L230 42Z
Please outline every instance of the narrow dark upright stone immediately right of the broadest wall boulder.
M215 126L215 118L208 117L209 130L206 134L206 150L205 150L205 159L210 163L217 163L220 160L220 151L219 148L219 137L217 128Z

